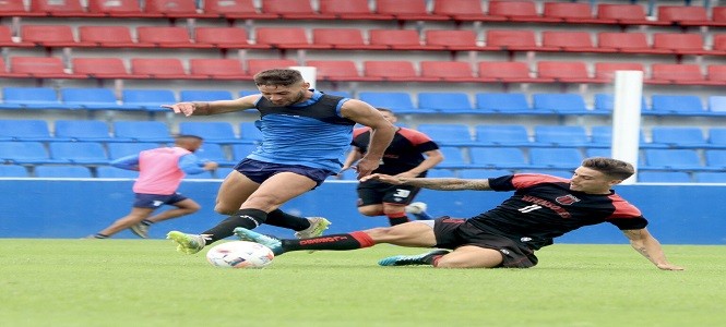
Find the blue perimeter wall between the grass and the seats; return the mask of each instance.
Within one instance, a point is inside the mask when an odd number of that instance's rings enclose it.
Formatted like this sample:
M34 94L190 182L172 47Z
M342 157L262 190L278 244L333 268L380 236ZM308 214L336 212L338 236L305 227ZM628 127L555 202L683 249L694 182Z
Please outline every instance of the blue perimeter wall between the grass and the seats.
M170 230L199 233L225 217L214 213L221 180L185 181L180 192L202 209L159 222L150 235L163 239ZM131 180L0 179L0 238L78 239L93 234L127 215L133 202ZM388 226L384 217L365 217L356 210L355 182L325 182L283 206L297 215L324 216L333 225L328 233ZM664 244L726 244L723 207L726 185L619 185L620 195L640 207L648 230ZM472 217L501 203L509 192L424 190L417 201L428 203L433 216ZM719 209L722 208L722 209ZM263 226L262 232L291 238L293 232ZM135 238L123 231L115 238ZM585 227L556 240L558 243L627 244L609 223Z

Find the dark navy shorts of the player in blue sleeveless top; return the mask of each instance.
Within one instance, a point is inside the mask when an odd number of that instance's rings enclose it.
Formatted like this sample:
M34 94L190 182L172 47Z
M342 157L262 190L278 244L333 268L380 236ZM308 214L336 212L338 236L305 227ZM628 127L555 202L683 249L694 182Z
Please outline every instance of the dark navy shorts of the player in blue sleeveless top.
M258 184L262 184L262 182L275 173L287 171L307 177L316 182L316 186L320 186L328 177L335 174L335 172L328 169L310 168L300 165L271 164L253 159L243 159L235 166L235 170Z

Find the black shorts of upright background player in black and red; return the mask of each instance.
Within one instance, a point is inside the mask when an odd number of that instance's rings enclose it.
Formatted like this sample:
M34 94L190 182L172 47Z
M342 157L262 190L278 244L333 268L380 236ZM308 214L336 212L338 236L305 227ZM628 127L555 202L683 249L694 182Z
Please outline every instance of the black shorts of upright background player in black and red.
M420 187L392 185L380 181L366 181L358 184L358 206L392 203L407 205L414 201Z

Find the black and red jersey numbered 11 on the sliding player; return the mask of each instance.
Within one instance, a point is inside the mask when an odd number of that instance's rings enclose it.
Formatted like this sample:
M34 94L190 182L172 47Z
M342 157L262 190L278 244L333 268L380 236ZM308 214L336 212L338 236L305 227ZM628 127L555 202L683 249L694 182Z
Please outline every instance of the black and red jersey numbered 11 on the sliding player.
M567 179L535 173L492 178L489 185L493 191L515 192L469 222L519 240L533 250L552 244L552 239L583 226L606 221L620 230L647 226L641 211L615 191L609 194L571 191Z

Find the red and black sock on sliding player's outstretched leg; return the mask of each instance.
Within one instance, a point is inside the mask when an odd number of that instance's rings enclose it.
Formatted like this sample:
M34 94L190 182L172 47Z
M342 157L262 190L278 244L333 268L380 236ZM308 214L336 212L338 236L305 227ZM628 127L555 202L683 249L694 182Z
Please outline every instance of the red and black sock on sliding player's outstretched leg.
M282 240L282 243L284 252L302 250L345 251L376 245L373 239L361 231L352 232L348 234L332 234L302 240Z

